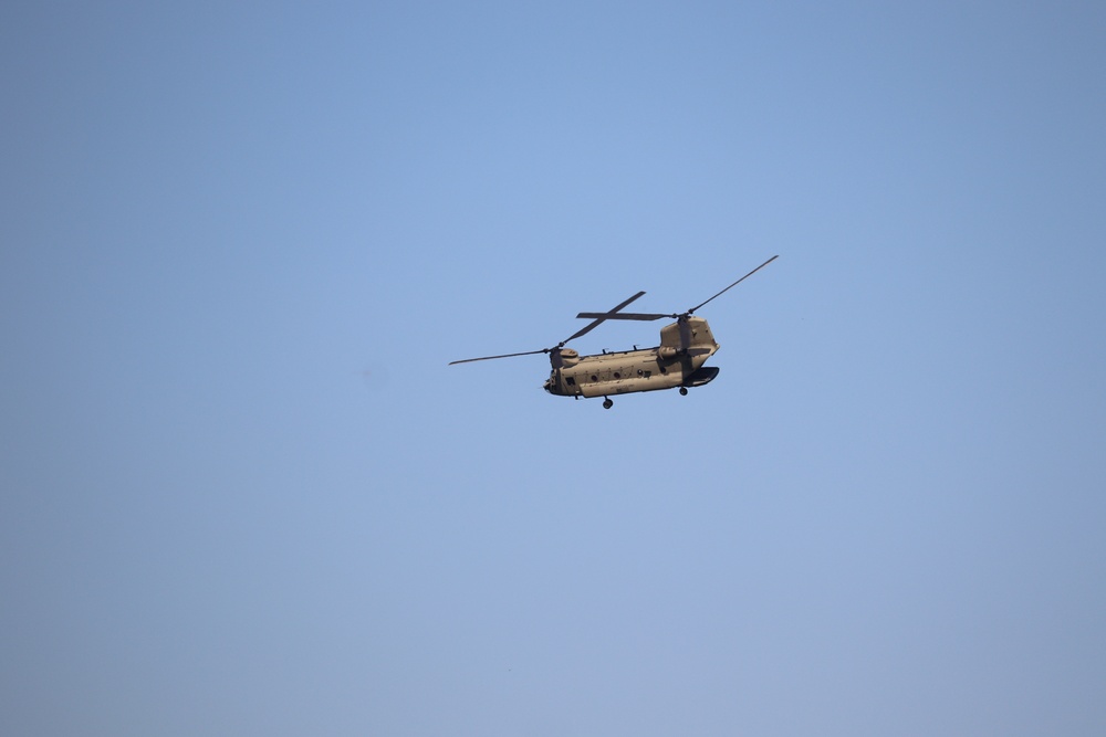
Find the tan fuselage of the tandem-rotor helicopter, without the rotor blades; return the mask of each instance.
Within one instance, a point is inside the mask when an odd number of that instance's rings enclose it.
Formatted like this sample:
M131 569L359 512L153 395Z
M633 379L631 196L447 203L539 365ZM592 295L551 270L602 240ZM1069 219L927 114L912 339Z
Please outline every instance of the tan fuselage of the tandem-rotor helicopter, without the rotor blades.
M550 372L545 391L562 397L607 397L676 387L698 387L716 376L716 367L703 362L718 351L710 326L701 317L687 319L687 350L680 350L679 323L660 330L656 348L581 356L571 348L561 350L560 368Z

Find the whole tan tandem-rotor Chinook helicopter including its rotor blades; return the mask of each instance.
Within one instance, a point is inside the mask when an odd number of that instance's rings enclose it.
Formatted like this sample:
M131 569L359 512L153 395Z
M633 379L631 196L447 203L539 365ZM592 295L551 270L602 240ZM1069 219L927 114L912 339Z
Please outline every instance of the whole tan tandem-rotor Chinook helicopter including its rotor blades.
M711 335L707 320L696 317L695 312L712 299L722 296L778 257L772 256L707 302L700 303L685 313L669 315L619 312L645 294L645 292L638 292L605 313L580 313L576 317L592 322L552 348L528 350L521 354L503 354L502 356L466 358L451 361L449 365L549 354L553 370L545 381L545 391L559 397L574 397L576 399L603 397L604 409L611 409L614 406L611 394L629 394L637 391L676 388L679 388L681 394L687 394L688 388L701 387L718 376L717 367L703 366L703 364L718 351L719 346L714 343L714 336ZM656 348L638 349L635 346L634 350L603 351L595 356L581 356L572 348L564 347L568 341L589 333L608 319L656 320L665 317L676 322L660 328L660 345Z

